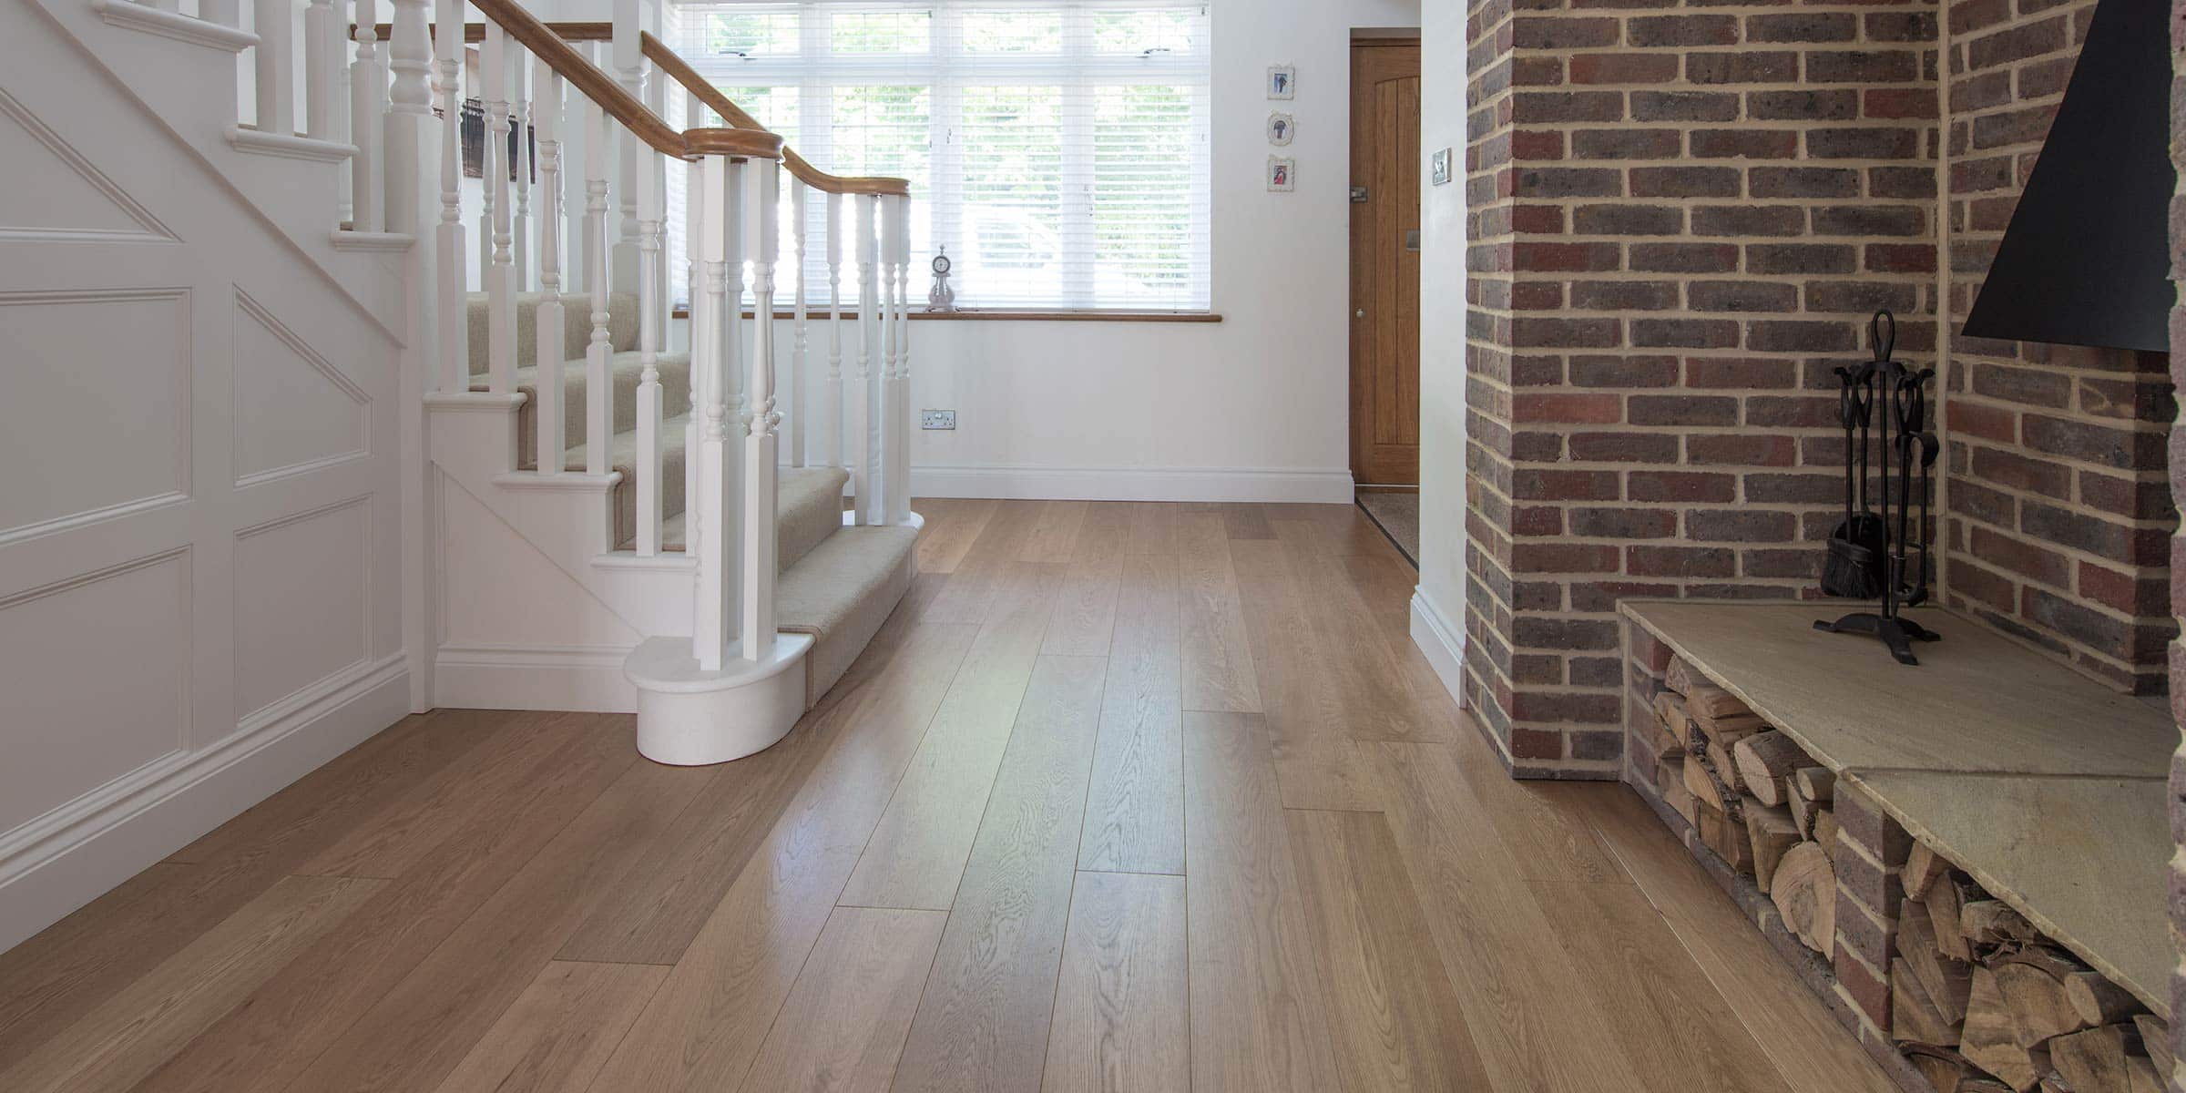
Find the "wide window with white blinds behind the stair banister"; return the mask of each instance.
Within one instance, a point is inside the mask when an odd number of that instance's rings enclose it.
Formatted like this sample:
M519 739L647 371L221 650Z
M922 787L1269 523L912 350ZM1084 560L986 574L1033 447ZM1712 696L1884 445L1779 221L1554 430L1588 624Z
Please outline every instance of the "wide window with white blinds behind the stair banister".
M912 179L914 304L947 247L960 306L1209 306L1204 0L671 0L667 31L813 164Z

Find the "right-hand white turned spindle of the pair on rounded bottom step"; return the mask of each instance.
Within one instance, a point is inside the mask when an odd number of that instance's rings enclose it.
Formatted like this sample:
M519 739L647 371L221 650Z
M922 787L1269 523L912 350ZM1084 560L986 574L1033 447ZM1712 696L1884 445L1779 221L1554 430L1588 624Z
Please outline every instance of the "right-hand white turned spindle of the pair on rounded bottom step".
M743 446L743 658L759 662L774 654L774 522L780 487L780 426L774 409L774 258L780 236L780 164L750 160L752 186L752 411Z

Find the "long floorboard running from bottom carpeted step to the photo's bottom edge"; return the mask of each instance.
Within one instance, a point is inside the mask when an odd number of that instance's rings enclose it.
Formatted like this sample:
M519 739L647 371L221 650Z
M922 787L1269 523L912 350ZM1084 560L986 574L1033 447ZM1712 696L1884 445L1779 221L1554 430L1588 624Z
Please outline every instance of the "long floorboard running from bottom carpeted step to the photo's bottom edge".
M734 1089L933 721L973 627L920 625L861 697L682 960L592 1082L599 1093Z

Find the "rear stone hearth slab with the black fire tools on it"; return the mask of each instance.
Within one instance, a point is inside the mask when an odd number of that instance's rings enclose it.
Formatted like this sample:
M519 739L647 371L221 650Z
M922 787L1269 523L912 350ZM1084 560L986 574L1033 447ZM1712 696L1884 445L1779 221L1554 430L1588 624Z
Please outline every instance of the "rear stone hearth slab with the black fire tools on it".
M1873 638L1814 630L1845 603L1622 608L1836 772L2164 778L2179 741L2162 708L1939 610L1908 614L1943 640L1906 667Z

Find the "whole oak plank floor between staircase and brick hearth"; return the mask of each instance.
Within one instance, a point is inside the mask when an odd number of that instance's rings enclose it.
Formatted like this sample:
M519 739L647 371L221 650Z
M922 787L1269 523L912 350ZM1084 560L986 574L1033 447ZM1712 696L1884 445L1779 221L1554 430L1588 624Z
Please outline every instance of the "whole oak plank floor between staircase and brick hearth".
M0 955L0 1089L1891 1089L1358 509L918 509L776 748L411 717Z

